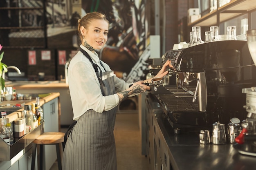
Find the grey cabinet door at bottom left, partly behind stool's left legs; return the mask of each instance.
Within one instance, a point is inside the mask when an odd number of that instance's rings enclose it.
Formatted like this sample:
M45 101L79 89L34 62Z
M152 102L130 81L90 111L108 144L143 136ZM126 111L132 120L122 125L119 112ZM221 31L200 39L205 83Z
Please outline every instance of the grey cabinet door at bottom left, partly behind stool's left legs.
M32 148L30 148L22 157L19 159L19 170L31 170L32 162ZM35 170L37 170L37 158L35 163Z

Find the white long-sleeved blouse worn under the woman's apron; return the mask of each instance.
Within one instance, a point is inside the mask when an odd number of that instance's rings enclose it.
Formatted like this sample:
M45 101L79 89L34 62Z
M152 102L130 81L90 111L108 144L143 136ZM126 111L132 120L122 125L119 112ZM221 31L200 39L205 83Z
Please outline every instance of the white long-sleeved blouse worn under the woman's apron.
M97 64L102 72L111 71L108 64L102 62L104 68L100 64L97 53L92 53L83 45L80 45L92 58L92 61ZM118 95L103 96L101 93L100 83L95 73L95 70L85 55L81 51L72 58L68 66L68 84L72 101L74 120L78 120L87 110L93 109L96 112L102 113L108 111L119 104ZM119 79L114 74L114 84L116 92L124 91L130 85Z

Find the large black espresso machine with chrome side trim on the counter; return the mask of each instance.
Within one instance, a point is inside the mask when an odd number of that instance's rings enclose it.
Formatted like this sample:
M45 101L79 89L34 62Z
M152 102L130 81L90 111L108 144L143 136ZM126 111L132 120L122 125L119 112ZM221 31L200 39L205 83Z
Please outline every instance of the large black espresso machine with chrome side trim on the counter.
M163 84L168 93L155 96L173 128L211 129L214 122L227 125L233 117L246 119L242 89L256 86L256 67L246 41L170 50L162 63L166 60L172 65ZM170 76L175 76L175 85Z

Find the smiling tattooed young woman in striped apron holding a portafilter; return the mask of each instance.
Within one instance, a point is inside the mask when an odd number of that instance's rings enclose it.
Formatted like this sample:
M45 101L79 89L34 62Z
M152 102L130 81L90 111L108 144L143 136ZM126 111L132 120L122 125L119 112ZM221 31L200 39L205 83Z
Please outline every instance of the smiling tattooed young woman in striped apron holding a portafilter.
M113 134L117 105L126 97L150 90L139 81L132 86L116 77L102 62L96 49L108 39L109 22L99 12L86 14L78 21L81 45L68 67L68 84L77 121L63 153L63 170L116 170ZM167 61L156 77L167 74ZM129 87L130 86L130 87Z

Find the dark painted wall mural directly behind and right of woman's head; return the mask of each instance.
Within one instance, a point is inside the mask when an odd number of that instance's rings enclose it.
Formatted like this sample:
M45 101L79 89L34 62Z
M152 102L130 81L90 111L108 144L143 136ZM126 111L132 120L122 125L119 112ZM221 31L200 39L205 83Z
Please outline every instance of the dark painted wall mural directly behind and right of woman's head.
M150 55L146 0L82 0L82 10L102 12L110 22L108 42L99 51L101 60L127 82L142 79Z

